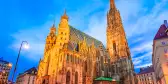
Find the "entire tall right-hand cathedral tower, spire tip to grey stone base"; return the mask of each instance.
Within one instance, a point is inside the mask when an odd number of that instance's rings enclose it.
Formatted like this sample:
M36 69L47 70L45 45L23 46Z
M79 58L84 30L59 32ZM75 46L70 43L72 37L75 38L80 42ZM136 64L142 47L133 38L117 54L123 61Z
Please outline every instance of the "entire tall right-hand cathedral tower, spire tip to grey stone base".
M119 77L121 84L134 83L134 68L128 47L126 34L122 25L120 12L114 0L110 0L110 10L107 13L107 50L110 61L115 67L114 77ZM117 75L118 76L117 76Z

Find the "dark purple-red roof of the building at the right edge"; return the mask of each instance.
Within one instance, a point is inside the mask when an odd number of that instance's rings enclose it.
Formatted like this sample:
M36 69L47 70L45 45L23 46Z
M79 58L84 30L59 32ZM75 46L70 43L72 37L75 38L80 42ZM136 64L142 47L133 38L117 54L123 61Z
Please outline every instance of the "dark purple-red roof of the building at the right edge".
M157 32L157 34L155 35L155 38L154 40L157 40L157 39L161 39L161 38L165 38L165 37L168 37L168 35L166 34L166 26L165 24L162 24Z

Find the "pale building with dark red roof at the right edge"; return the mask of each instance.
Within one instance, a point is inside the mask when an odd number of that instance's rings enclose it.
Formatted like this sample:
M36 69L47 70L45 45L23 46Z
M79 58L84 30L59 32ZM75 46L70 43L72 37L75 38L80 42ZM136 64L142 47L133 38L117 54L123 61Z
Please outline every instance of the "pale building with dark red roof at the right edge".
M168 84L168 24L164 21L153 40L152 63L158 84Z

